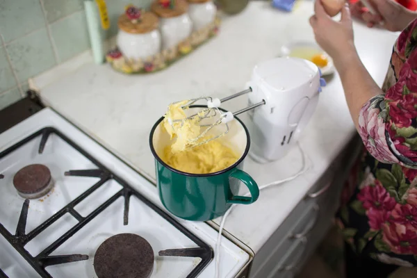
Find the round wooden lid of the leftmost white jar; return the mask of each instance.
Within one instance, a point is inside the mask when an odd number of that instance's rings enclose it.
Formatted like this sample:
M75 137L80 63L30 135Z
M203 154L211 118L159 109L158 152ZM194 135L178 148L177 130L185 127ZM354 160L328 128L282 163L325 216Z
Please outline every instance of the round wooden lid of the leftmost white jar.
M117 25L122 31L131 34L144 34L158 28L159 19L154 13L145 12L138 8L135 9L131 10L133 15L132 13L129 15L129 8L126 10L126 13L120 15ZM137 15L136 13L139 14Z

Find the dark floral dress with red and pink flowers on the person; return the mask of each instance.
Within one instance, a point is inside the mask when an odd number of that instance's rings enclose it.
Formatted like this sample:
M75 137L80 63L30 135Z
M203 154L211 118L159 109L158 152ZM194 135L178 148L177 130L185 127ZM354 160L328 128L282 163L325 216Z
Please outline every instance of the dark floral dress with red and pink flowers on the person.
M358 254L417 266L417 19L393 47L383 95L359 115L365 149L344 188L338 213Z

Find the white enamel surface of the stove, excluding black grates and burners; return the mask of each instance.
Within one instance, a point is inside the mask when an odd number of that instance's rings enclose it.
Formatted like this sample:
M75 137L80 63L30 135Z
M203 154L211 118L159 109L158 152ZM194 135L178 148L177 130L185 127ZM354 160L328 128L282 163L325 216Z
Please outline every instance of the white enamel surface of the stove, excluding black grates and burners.
M47 126L57 129L67 138L70 138L99 163L124 179L141 195L165 211L159 201L156 187L152 183L141 177L131 167L128 167L50 108L44 108L39 113L24 120L24 122L1 133L0 152ZM0 179L0 224L3 224L3 227L12 235L16 233L19 215L24 204L24 198L17 194L17 190L13 186L13 177L22 167L35 163L46 165L49 167L51 176L55 181L54 189L48 195L30 200L26 220L26 235L31 235L31 231L34 231L45 220L100 181L98 177L65 176L64 173L69 170L92 170L98 169L98 166L54 133L49 136L42 154L38 154L40 140L41 136L33 138L14 152L0 158L0 174L4 175L4 178ZM149 161L149 163L154 163L154 161ZM122 188L122 185L115 179L105 181L86 199L76 204L74 210L85 218ZM208 224L175 219L215 250L217 231L209 227ZM49 247L78 223L79 221L70 212L63 213L54 224L33 237L25 245L25 249L31 256L38 256L42 250ZM201 261L199 258L158 256L158 252L161 250L192 248L198 247L198 245L156 213L154 209L132 195L129 201L129 223L127 225L124 225L124 198L120 196L50 254L50 256L82 254L88 255L89 259L51 265L46 268L47 272L51 277L59 278L97 277L93 267L97 248L107 238L122 233L138 234L152 246L155 254L152 278L186 277ZM8 277L41 277L1 235L0 250L0 269ZM221 277L235 277L250 259L246 252L231 243L227 238L222 239L221 252ZM214 262L215 259L204 268L198 277L214 277Z

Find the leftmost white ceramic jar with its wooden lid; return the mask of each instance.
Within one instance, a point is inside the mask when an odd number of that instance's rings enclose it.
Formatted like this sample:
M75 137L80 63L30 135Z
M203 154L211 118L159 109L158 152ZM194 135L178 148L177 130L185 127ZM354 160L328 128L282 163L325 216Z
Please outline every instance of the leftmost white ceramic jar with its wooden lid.
M119 33L116 43L123 56L133 60L144 60L161 51L159 19L153 13L143 13L140 19L132 20L126 14L117 22Z

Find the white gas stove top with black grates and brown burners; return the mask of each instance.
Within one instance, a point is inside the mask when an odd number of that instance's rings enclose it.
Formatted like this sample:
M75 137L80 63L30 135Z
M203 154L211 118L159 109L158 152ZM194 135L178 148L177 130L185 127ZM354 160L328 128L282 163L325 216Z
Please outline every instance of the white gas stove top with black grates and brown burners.
M214 277L216 236L50 108L0 134L0 277ZM221 252L222 277L250 259Z

